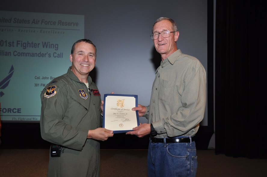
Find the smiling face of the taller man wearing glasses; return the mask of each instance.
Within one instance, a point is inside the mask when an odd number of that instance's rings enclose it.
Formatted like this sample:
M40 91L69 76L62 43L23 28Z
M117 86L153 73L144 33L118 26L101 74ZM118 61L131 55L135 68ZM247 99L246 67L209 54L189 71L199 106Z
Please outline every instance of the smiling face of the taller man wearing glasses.
M170 31L173 32L173 26L169 20L162 20L155 23L153 33ZM162 61L177 50L176 41L178 40L179 32L170 33L170 37L163 38L158 35L158 39L153 40L154 46L159 54L161 54Z

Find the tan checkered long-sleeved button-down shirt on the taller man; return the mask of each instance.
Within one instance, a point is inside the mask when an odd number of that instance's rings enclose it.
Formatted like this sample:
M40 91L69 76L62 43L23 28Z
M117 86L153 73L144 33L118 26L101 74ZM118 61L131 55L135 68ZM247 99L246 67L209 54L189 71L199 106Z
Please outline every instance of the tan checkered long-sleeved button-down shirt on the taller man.
M206 71L200 61L177 50L156 70L145 117L157 138L192 136L206 106Z

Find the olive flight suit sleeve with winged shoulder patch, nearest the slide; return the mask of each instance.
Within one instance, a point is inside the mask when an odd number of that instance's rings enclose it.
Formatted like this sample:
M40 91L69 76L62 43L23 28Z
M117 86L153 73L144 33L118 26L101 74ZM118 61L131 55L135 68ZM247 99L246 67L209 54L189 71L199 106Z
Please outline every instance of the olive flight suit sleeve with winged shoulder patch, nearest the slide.
M81 151L89 130L68 121L68 118L75 116L75 110L73 115L65 115L66 110L71 109L69 101L65 87L48 85L44 88L41 93L41 137L51 143Z

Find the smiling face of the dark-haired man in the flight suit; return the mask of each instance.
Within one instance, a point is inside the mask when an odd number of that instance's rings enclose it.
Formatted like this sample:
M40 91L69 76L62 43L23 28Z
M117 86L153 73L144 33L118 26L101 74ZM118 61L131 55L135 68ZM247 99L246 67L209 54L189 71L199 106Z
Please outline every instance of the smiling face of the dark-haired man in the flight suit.
M96 49L92 44L78 42L75 45L73 54L69 56L72 62L72 72L81 82L87 82L87 77L96 63Z

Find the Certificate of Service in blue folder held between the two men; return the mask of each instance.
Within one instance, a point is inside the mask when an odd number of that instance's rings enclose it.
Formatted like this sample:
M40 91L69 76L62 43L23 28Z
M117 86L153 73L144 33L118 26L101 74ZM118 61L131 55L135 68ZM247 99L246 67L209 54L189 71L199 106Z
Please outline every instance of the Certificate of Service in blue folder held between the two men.
M103 105L103 128L112 130L113 133L133 131L139 125L137 95L105 94Z

